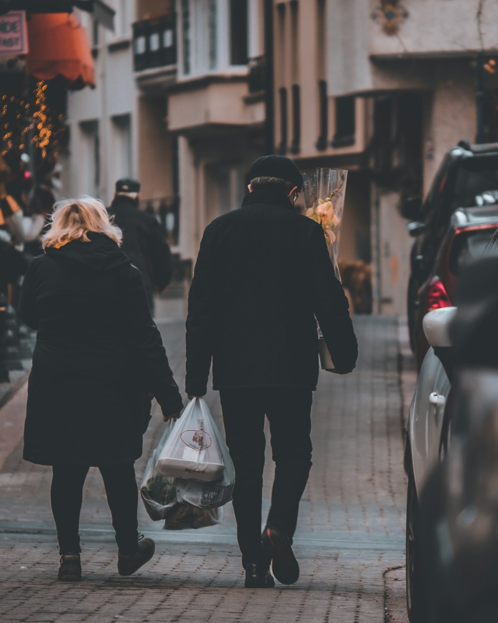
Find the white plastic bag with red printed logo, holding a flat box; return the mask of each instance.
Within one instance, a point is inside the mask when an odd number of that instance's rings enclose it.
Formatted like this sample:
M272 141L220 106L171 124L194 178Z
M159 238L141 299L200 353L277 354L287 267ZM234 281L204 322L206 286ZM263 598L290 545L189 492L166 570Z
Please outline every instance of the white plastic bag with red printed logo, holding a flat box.
M204 399L194 398L166 440L157 459L157 471L185 480L220 480L225 471L224 445Z

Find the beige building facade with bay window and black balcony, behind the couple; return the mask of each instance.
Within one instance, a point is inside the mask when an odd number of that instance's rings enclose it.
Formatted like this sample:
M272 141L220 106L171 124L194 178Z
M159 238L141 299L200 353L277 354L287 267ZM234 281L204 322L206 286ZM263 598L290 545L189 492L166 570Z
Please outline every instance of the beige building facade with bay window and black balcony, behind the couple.
M262 0L115 0L106 35L91 21L98 85L71 98L65 188L111 201L120 176L142 184L174 252L195 259L204 227L240 206L263 152ZM81 19L85 19L84 16Z

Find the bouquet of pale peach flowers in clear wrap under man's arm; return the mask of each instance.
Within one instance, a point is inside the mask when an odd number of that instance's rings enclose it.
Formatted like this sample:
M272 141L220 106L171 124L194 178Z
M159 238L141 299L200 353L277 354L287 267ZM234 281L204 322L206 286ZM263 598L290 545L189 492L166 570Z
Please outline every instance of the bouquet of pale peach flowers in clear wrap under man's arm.
M337 257L341 235L342 211L346 191L347 171L343 169L316 169L316 173L304 175L304 202L306 216L322 226L325 242L337 279L341 281ZM322 369L334 372L334 363L320 328L318 345Z

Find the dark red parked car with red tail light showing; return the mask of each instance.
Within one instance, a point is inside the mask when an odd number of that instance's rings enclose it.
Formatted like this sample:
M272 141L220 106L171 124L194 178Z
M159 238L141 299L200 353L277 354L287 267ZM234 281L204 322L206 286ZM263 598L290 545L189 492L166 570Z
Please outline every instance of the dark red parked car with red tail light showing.
M494 201L494 196L489 199ZM429 348L422 329L423 317L431 310L456 304L459 273L469 262L482 257L497 227L498 205L460 208L451 215L433 267L417 293L413 343L418 369Z

